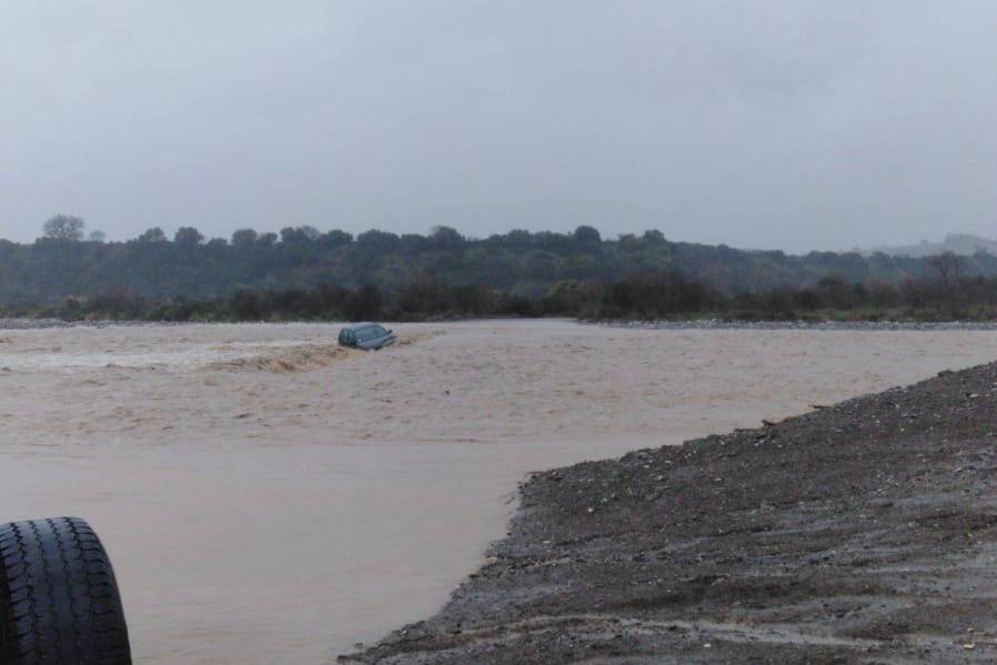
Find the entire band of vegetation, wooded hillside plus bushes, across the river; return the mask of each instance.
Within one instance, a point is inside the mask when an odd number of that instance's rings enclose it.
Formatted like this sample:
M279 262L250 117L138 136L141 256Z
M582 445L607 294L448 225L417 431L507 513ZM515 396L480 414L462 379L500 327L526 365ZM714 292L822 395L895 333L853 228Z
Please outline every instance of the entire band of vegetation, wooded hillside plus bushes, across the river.
M0 315L169 321L413 320L484 315L585 319L991 318L997 258L734 250L657 231L603 240L512 231L484 240L367 231L231 240L190 226L129 242L84 238L58 215L32 244L0 241Z

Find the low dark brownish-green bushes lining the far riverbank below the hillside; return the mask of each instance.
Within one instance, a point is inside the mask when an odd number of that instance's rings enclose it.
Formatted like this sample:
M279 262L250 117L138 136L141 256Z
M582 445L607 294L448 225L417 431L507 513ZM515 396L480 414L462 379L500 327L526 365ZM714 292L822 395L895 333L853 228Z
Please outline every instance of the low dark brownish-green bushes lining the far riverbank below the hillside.
M0 318L62 321L426 321L481 316L571 316L590 321L852 322L997 321L997 278L936 278L903 284L825 278L802 289L722 292L675 273L618 281L557 282L543 294L452 284L431 273L400 286L321 285L235 290L229 298L151 301L127 290L57 303L9 303Z

